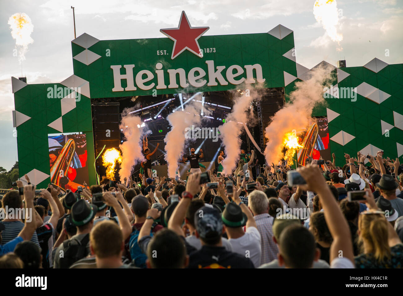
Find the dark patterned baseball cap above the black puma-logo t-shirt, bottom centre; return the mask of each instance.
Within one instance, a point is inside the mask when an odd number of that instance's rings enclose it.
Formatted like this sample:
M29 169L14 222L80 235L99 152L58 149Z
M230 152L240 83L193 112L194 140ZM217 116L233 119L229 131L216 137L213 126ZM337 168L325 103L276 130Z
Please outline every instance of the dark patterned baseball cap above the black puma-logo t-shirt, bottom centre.
M202 212L200 212L202 211ZM202 215L200 215L202 213ZM220 212L210 207L201 207L195 213L195 227L203 241L215 241L222 234L222 219Z

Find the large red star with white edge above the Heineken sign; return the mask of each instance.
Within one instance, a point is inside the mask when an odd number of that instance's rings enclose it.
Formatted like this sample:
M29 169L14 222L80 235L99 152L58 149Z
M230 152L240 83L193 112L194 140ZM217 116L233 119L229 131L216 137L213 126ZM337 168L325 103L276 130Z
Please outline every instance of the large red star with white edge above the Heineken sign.
M202 57L197 39L199 39L199 37L208 29L210 28L191 27L185 11L182 11L181 20L179 21L179 26L177 28L160 29L160 32L174 41L174 48L172 49L171 56L171 59L173 60L185 50L189 50L189 52L193 52L193 54Z

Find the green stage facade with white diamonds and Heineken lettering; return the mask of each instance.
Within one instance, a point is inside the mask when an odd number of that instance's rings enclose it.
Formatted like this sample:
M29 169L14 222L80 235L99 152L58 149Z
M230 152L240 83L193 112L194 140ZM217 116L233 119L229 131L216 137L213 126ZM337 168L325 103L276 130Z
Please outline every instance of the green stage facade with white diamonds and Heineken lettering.
M33 184L47 186L48 134L83 132L89 182L96 183L90 98L226 91L248 85L285 87L287 98L295 82L310 71L295 62L293 34L278 25L268 33L199 36L198 54L185 50L172 58L170 38L98 40L84 33L71 43L71 77L56 84L26 84L12 77L20 176L27 173ZM326 106L313 112L329 118L329 145L337 165L344 164L344 152L374 154L382 149L400 157L403 64L374 59L362 67L333 67L332 72L332 85L357 87L358 93L351 101L331 91L336 97L330 95Z

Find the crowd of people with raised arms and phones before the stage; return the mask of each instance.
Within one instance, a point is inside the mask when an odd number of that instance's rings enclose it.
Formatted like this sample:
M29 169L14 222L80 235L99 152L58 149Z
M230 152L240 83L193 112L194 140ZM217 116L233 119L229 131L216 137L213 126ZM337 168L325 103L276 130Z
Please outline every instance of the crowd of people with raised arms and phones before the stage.
M151 154L147 141L143 149ZM403 267L399 159L345 154L337 167L333 154L255 173L254 151L242 151L235 172L223 174L224 152L204 172L194 152L183 157L186 180L151 178L146 164L141 182L104 178L77 192L18 181L1 199L0 268ZM294 172L304 182L287 179Z

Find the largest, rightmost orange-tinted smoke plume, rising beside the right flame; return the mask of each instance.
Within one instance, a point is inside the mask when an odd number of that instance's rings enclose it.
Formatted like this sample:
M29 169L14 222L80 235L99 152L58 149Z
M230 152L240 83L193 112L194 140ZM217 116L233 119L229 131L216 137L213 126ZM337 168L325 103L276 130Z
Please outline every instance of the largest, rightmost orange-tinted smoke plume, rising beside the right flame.
M310 72L310 79L295 83L290 101L276 112L266 127L268 143L264 150L267 164L277 164L283 158L283 138L287 132L301 130L308 126L316 103L324 102L323 83L330 81L331 65L318 66Z

